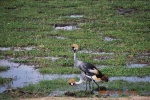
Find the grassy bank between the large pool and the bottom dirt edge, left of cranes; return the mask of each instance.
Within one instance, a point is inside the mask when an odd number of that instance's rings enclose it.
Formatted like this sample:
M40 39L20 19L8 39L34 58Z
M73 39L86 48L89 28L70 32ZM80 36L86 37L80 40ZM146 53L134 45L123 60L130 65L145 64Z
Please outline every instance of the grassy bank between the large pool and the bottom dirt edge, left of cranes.
M28 85L23 88L8 90L5 93L0 94L0 98L3 99L16 99L27 97L39 97L48 96L53 90L65 89L68 85L67 80L43 80L33 85Z

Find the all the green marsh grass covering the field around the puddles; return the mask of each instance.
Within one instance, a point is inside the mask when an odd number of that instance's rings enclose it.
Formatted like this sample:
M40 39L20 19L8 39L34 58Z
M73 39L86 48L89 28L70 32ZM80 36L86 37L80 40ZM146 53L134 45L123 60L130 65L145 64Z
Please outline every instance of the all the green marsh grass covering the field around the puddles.
M0 51L1 59L10 57L15 58L14 62L39 65L42 74L80 73L78 69L72 68L74 62L71 45L77 43L79 51L108 53L78 52L77 54L82 61L96 66L110 66L101 69L108 76L150 75L149 65L143 68L124 67L132 62L150 63L150 1L148 0L0 0L0 9L0 47L12 48ZM71 18L70 15L83 15L83 17ZM59 24L77 25L80 29L56 30L55 26ZM57 36L65 39L56 38ZM114 40L106 41L105 37ZM35 49L13 50L15 47L32 46ZM60 57L60 59L52 61L40 57ZM17 60L17 58L22 59ZM0 71L5 70L7 68L0 66ZM35 93L38 96L39 94L45 96L54 90L53 87L59 88L60 84L65 82L42 81L23 88L23 91L33 92L32 96ZM108 88L119 89L126 85L126 83L119 85L119 82L113 84L117 84L118 87L113 85ZM134 84L135 90L147 89L148 83L143 83L145 86L141 88L138 87L141 86L140 83L137 84ZM4 98L6 96L0 95ZM10 93L9 96L14 95Z

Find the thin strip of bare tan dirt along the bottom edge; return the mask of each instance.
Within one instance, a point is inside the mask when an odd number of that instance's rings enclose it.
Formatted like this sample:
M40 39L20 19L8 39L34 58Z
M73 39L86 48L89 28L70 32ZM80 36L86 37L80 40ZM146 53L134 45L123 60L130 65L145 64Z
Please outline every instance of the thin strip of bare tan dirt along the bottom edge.
M42 97L42 98L26 98L20 100L150 100L150 96L129 96L119 98L74 98L74 97Z

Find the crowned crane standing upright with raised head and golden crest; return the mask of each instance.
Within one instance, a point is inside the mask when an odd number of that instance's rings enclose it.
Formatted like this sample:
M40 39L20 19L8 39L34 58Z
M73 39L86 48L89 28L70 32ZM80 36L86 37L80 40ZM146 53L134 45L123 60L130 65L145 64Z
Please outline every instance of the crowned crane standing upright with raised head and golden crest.
M108 82L108 77L105 74L102 74L102 72L100 72L93 64L86 63L77 59L76 56L78 50L77 44L72 45L72 50L74 51L74 66L79 68L82 72L84 72L86 77L86 84L87 84L87 79L91 79L92 83L94 82L98 86L98 88L100 88L97 82L100 81ZM87 85L86 85L86 90L87 90Z

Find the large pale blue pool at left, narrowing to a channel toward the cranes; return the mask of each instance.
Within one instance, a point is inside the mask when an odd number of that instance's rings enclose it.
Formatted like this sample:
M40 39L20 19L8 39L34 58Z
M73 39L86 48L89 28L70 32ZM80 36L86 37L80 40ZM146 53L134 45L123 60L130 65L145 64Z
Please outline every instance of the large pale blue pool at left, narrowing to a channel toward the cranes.
M41 80L53 80L57 78L73 78L76 74L46 74L42 75L39 71L34 69L34 66L28 66L19 63L13 63L8 60L0 60L0 65L9 66L10 70L0 72L0 76L4 78L13 78L13 81L4 86L0 85L0 92L9 88L23 87L28 84L35 84Z

